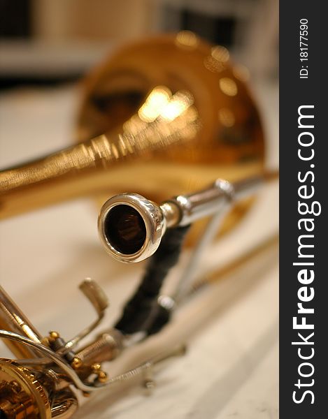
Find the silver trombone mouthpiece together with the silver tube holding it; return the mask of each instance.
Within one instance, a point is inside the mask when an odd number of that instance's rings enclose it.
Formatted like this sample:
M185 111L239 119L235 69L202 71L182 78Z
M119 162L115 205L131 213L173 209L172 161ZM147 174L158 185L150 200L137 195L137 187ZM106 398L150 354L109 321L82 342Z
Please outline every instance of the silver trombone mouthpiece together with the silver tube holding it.
M159 247L166 228L183 227L231 207L252 196L264 182L255 176L213 184L189 195L179 195L156 205L138 193L113 196L101 208L98 229L106 251L121 262L140 262Z

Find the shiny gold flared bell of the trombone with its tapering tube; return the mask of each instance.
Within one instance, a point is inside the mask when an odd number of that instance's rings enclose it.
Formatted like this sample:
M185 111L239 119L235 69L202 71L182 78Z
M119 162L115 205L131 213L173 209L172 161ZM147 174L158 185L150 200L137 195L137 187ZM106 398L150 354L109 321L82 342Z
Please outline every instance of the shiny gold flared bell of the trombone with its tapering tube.
M134 190L157 202L258 174L259 114L224 47L194 34L122 48L85 80L80 144L0 173L0 216Z

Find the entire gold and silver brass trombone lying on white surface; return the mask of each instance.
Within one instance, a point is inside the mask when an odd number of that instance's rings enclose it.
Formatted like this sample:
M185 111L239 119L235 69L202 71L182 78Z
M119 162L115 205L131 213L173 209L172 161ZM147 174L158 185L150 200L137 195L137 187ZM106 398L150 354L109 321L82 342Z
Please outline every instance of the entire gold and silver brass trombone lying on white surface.
M136 375L151 387L152 367L183 346L111 378L104 362L171 321L190 297L194 265L219 226L236 225L257 189L277 175L264 170L259 114L224 47L188 32L141 41L114 54L85 86L78 145L3 170L0 214L93 196L102 204L98 224L106 251L127 263L150 261L121 318L87 344L108 307L95 281L83 281L80 290L97 320L69 340L57 331L43 336L1 289L0 337L17 358L0 361L3 418L69 418L78 408L77 392L110 391ZM134 193L120 193L131 185ZM189 230L190 242L197 242L191 262L174 292L163 295Z

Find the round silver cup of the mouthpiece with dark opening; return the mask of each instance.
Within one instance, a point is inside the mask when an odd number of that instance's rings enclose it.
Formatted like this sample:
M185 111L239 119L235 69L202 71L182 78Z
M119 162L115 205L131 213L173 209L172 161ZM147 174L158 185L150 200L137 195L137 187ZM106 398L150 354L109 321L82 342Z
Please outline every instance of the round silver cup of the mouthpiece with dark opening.
M122 193L101 208L98 230L110 256L121 262L140 262L159 247L166 219L150 200L138 193Z

